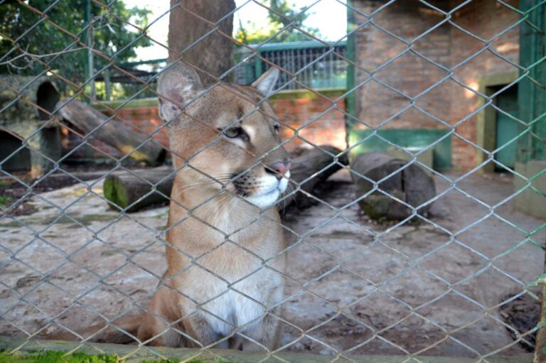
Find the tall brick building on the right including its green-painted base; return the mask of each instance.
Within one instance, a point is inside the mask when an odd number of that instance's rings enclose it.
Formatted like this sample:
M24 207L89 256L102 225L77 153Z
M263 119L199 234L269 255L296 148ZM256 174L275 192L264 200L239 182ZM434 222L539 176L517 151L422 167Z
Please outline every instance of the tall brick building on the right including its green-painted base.
M438 142L435 167L468 170L481 161L472 143L487 149L496 138L480 121L486 97L479 92L518 75L520 15L510 9L518 1L428 2L349 1L360 120L351 122L350 143L378 128L401 146L411 147L412 139L417 147ZM375 141L364 146L384 143Z

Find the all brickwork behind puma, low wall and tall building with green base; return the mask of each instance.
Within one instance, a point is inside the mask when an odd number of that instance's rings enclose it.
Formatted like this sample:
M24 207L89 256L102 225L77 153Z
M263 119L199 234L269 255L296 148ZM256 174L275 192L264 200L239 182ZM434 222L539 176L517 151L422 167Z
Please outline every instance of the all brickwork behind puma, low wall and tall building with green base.
M287 126L283 129L290 140L287 148L328 143L343 149L347 140L357 152L431 146L434 168L469 170L483 161L477 146L486 150L498 146L496 121L487 124L486 112L478 110L487 102L485 96L518 77L520 15L510 9L517 8L518 1L428 4L348 1L353 32L347 57L355 64L348 73L348 89L355 88L350 95L353 103L350 97L339 99L344 90L275 94L271 100ZM161 127L154 99L129 102L117 111L117 118L146 134ZM375 130L379 136L372 135ZM165 130L156 132L154 139L168 144ZM79 141L67 134L65 150ZM79 148L72 157L121 156L100 141L90 143L95 148ZM489 164L486 168L492 170Z

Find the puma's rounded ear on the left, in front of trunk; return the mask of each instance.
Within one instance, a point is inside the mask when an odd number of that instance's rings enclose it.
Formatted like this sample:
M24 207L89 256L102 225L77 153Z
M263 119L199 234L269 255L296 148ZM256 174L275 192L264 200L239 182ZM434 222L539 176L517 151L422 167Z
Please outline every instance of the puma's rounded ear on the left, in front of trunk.
M168 64L157 80L159 117L165 122L176 119L201 90L203 85L192 67L181 61Z

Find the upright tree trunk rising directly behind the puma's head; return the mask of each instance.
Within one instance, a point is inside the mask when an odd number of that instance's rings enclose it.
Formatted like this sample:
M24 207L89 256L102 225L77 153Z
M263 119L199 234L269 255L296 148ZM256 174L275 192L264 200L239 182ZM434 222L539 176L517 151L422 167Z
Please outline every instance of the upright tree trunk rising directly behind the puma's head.
M219 31L231 36L233 15L223 17L235 10L235 1L171 0L171 8L173 9L168 23L168 61L182 57L186 63L197 67L196 71L203 85L216 82L231 67L234 43ZM215 24L218 29L205 36L215 28ZM202 36L205 38L200 39ZM192 45L197 40L198 43ZM186 50L190 45L191 48Z

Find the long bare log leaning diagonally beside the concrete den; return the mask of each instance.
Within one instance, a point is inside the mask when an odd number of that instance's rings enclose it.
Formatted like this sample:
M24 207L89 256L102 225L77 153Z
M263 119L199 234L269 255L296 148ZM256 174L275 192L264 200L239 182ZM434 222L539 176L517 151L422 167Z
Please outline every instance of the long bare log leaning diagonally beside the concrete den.
M76 100L67 104L65 102L66 100L61 100L57 104L60 116L85 134L92 131L90 136L93 139L107 143L149 166L157 166L165 161L166 150L157 143L146 142L148 139L146 134L139 134L125 126L122 121L109 119L102 112L82 102Z

